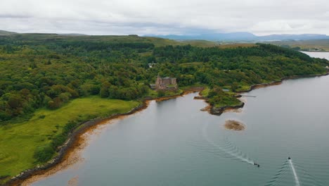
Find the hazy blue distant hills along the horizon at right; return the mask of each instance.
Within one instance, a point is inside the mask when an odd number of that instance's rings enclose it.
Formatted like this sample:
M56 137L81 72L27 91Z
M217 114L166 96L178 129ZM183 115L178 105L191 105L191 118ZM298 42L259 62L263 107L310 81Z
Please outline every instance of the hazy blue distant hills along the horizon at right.
M250 32L230 32L230 33L207 33L200 35L152 35L175 40L196 40L204 39L209 41L284 41L284 40L310 40L329 39L328 35L302 34L302 35L266 35L257 36Z

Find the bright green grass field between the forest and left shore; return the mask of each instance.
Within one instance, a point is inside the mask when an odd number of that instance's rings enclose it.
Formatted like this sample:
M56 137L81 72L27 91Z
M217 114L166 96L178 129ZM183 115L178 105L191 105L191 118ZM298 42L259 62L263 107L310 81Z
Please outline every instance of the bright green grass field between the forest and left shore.
M74 99L57 110L39 109L27 122L0 126L0 177L8 175L9 179L36 166L33 158L35 149L50 143L51 137L59 134L69 120L89 120L125 113L139 104L138 101L100 97Z

